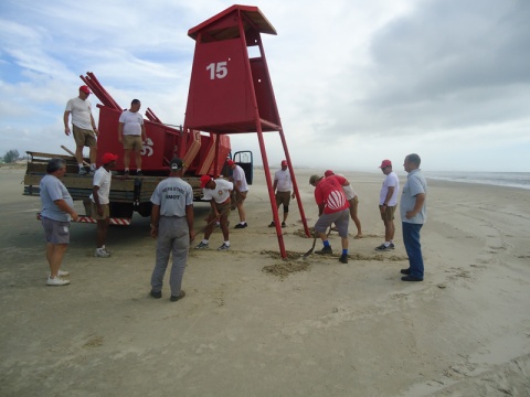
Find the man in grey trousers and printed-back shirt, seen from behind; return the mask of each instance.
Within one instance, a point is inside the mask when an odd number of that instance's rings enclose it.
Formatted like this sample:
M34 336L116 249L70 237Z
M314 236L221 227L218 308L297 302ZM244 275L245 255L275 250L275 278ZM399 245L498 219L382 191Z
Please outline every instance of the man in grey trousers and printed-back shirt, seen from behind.
M169 286L171 302L184 298L184 276L188 249L195 238L193 230L193 190L182 180L183 161L174 158L169 163L169 178L161 181L151 196L151 236L157 238L157 259L151 275L152 298L162 298L163 275L172 256Z

